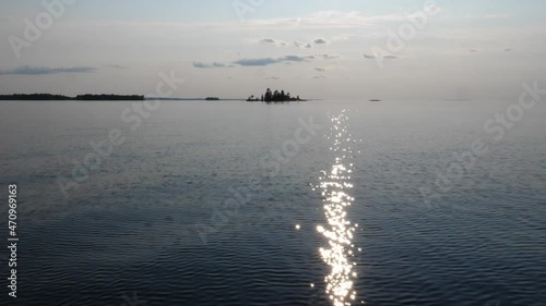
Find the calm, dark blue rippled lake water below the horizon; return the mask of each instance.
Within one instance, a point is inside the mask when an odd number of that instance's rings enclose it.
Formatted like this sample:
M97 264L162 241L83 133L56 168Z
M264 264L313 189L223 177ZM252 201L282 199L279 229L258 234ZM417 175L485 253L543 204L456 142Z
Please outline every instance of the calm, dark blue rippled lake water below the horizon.
M512 102L2 101L11 305L546 305L545 101L485 131Z

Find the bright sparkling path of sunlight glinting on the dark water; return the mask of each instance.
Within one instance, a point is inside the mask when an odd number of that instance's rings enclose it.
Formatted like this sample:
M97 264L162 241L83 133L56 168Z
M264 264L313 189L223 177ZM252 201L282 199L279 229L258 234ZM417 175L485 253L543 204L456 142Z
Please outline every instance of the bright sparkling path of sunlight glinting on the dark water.
M347 120L345 110L339 117L330 117L333 126L331 127L333 146L330 148L336 152L335 162L330 174L323 171L320 179L320 187L324 201L324 216L328 225L318 225L317 231L328 240L328 247L319 248L322 260L331 267L330 274L324 278L327 295L332 305L351 305L355 299L356 292L353 290L356 272L353 271L355 262L349 258L353 255L353 233L356 224L345 219L347 212L345 208L349 206L354 198L349 196L351 172L353 163L348 166L346 158L352 158L351 140L353 137L347 132ZM341 154L343 152L343 154Z

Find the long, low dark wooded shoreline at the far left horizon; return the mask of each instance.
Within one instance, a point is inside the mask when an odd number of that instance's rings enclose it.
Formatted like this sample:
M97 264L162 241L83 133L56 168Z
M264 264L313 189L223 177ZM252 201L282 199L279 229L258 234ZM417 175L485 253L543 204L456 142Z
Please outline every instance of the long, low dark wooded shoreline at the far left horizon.
M78 95L68 97L51 94L15 94L0 95L0 100L80 100L80 101L143 101L144 96L139 95Z

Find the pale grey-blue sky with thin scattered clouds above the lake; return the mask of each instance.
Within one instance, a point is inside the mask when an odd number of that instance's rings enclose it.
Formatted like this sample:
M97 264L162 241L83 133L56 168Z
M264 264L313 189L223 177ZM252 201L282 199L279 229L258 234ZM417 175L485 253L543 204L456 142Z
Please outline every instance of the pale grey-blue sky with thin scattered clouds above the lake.
M539 0L3 1L0 94L154 96L174 71L186 83L171 97L513 100L546 84L545 13Z

